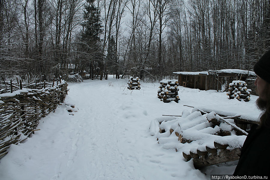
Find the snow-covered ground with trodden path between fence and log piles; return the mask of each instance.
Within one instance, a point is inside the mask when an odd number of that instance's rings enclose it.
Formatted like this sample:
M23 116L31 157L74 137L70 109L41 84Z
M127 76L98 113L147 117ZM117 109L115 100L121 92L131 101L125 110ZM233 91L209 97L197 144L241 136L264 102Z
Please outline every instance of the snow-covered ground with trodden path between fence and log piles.
M256 120L257 96L240 102L215 90L181 86L179 103L163 103L157 98L158 83L142 83L141 90L131 91L127 81L70 83L65 103L79 110L69 115L61 105L40 121L40 131L24 143L11 145L0 160L0 179L210 179L210 174L233 173L237 162L196 170L192 160L184 161L182 151L162 148L150 136L150 122L162 114L191 111L183 105Z

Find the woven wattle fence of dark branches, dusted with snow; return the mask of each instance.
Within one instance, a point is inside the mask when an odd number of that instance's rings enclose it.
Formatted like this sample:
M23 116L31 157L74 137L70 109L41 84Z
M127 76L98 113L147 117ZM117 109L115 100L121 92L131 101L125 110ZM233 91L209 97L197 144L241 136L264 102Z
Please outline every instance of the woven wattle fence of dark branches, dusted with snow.
M11 82L0 86L0 159L8 153L11 144L18 144L35 133L39 120L64 102L67 87L63 80L24 86Z

